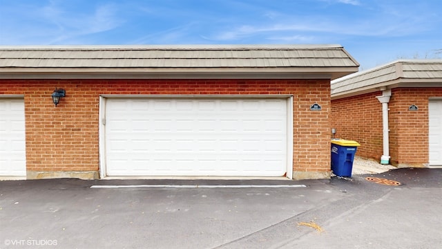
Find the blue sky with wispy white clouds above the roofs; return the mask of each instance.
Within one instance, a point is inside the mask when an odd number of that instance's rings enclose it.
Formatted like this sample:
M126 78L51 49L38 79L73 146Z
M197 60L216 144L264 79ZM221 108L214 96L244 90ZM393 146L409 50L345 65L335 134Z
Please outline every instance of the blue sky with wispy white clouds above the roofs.
M340 44L366 70L442 57L441 0L0 0L0 45Z

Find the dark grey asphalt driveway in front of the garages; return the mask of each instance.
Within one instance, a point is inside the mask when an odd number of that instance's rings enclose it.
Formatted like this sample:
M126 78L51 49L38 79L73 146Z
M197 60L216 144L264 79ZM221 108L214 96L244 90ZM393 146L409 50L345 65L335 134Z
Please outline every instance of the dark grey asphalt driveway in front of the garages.
M434 248L441 181L0 181L0 248Z

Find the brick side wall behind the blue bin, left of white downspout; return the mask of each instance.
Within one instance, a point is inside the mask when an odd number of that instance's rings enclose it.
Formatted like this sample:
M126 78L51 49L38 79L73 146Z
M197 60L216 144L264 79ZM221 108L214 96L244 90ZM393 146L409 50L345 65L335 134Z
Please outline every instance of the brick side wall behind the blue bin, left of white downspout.
M335 138L356 140L361 144L357 156L380 160L382 145L381 91L332 100L332 128Z

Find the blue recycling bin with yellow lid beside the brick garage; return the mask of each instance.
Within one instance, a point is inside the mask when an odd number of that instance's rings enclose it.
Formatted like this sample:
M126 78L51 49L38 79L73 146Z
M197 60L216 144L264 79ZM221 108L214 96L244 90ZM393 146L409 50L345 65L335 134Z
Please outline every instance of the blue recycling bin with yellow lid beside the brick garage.
M332 139L332 171L336 176L352 177L353 160L360 144L353 140Z

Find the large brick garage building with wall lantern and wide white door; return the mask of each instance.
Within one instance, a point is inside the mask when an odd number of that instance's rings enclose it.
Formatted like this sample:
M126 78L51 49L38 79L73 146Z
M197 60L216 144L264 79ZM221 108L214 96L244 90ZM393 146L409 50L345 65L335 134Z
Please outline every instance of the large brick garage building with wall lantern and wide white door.
M0 176L328 178L330 80L357 68L341 46L0 47Z

